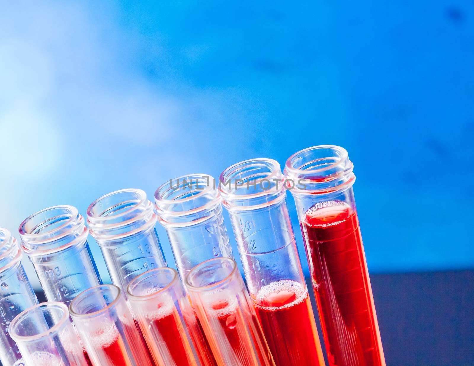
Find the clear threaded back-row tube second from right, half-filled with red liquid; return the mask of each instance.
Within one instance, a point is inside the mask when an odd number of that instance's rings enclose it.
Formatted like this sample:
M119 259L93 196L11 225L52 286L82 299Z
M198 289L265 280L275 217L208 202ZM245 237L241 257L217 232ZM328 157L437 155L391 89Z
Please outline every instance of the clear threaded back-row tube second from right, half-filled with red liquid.
M256 314L275 365L324 365L278 162L251 159L220 175Z

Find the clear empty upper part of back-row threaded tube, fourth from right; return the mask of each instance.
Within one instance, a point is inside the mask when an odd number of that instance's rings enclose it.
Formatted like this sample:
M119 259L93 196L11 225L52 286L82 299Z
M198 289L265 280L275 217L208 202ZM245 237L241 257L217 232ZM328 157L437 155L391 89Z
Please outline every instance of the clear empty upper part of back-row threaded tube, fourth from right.
M165 267L153 203L139 189L106 194L87 209L87 223L100 246L112 283L128 283L149 269Z

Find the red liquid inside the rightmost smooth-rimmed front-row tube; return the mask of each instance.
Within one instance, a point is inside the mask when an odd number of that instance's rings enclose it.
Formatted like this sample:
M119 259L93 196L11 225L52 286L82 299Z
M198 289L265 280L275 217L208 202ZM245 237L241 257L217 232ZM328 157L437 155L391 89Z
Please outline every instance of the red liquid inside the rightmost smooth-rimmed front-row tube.
M256 350L253 347L253 344L259 344L258 342L262 341L255 338L253 331L257 320L254 319L255 324L246 324L242 311L236 305L229 304L227 300L216 301L210 305L210 329L207 329L206 333L214 336L211 347L214 347L215 353L218 354L217 364L219 366L273 365L268 361L267 355L261 354L260 347L256 347ZM247 331L247 325L250 328L250 334Z

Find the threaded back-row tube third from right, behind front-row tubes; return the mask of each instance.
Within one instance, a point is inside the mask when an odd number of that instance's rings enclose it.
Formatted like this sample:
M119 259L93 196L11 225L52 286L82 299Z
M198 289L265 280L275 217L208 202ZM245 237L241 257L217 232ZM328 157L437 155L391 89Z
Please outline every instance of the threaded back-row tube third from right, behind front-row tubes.
M208 259L233 258L220 201L214 178L206 174L172 179L155 192L158 220L168 234L182 281L194 266ZM201 364L215 366L203 330L191 336Z

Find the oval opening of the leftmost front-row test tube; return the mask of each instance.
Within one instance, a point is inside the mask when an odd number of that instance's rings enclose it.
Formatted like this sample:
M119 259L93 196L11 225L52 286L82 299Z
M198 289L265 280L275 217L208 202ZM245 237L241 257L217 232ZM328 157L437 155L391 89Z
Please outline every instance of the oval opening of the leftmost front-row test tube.
M22 311L10 323L9 333L16 342L53 337L69 320L67 306L61 302L43 302Z

